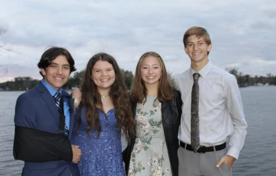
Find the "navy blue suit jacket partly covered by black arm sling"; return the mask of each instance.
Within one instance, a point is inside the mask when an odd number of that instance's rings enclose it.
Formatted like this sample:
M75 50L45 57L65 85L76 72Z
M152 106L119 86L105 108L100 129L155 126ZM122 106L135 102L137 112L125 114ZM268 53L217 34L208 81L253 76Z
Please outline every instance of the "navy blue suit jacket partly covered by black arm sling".
M67 98L70 110L69 140L72 140L74 127L74 105L71 96L64 90L62 94ZM57 133L59 129L59 112L54 98L47 88L39 82L33 89L21 94L15 106L14 123L17 126L34 128L37 130ZM73 176L79 175L76 164L65 160L49 162L25 162L22 176Z

